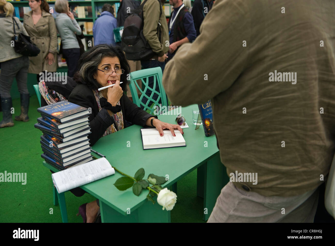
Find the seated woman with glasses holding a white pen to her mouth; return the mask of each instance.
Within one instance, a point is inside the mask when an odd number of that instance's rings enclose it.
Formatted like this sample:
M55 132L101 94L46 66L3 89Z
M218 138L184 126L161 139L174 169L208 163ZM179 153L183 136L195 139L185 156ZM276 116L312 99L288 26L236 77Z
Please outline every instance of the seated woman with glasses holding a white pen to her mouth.
M126 121L143 127L153 126L161 136L163 129L171 130L174 136L174 129L183 134L179 125L160 121L157 116L145 112L131 102L124 93L129 83L127 75L130 74L130 67L120 47L94 46L81 56L78 68L74 75L77 86L68 101L92 110L88 117L91 128L88 135L90 146L101 137L125 128ZM120 84L120 81L123 83ZM115 85L98 91L98 88L111 84ZM79 213L87 223L94 222L98 211L98 200L79 207Z

